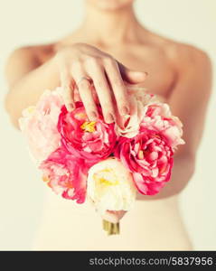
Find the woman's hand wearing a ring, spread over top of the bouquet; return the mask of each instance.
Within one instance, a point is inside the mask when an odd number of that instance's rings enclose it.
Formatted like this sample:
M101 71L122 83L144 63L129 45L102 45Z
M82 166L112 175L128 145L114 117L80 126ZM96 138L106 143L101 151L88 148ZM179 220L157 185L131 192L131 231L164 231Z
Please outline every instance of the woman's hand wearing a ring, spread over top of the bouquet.
M65 105L69 111L74 107L74 90L78 89L89 120L98 117L93 88L99 98L107 123L130 113L127 89L124 81L137 84L146 79L146 72L128 70L108 53L84 43L76 43L58 51L55 60L61 72L61 86ZM93 84L93 86L92 86Z

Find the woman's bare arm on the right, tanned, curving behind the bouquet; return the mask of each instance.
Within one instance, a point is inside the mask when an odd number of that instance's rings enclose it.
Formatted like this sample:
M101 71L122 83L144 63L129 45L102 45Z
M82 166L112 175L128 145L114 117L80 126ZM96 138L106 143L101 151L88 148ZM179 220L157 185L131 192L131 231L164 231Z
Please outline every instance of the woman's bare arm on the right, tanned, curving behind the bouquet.
M183 191L195 168L195 156L202 139L208 101L211 96L211 61L193 47L183 48L179 55L178 79L169 98L174 116L183 122L185 145L174 154L172 180L155 196L139 195L140 200L154 200Z

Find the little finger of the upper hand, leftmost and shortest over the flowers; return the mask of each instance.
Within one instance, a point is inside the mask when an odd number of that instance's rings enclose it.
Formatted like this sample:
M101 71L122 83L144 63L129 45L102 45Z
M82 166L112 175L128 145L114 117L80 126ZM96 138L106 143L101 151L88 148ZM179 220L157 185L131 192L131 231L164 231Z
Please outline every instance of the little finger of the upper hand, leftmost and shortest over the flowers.
M74 99L73 99L73 83L70 77L70 73L66 69L61 70L60 74L61 79L61 87L62 97L65 103L65 107L67 107L68 111L72 111L74 109Z

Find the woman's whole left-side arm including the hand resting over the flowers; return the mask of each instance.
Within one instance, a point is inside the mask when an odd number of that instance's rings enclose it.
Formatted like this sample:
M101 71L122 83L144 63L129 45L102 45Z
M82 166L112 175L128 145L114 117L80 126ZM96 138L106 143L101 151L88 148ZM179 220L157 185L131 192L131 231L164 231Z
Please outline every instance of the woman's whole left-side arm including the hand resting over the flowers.
M129 70L112 56L85 43L74 43L61 49L45 64L38 61L33 50L14 51L5 71L10 89L5 107L16 127L23 108L34 105L45 89L60 85L64 89L63 98L68 110L74 107L76 87L89 119L96 120L98 109L89 79L94 84L105 121L111 123L116 119L114 104L122 116L130 111L123 79L130 83L146 79L145 72Z

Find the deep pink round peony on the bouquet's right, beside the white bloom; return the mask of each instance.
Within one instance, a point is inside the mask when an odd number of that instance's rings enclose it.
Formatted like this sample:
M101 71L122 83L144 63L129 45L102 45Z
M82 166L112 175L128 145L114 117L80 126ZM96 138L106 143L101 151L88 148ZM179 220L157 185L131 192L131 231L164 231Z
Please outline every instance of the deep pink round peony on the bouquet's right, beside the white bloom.
M159 192L171 177L173 150L163 135L142 128L134 138L121 137L115 156L133 174L137 190L145 195Z

